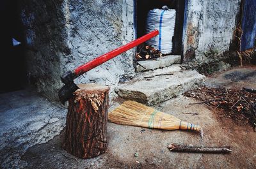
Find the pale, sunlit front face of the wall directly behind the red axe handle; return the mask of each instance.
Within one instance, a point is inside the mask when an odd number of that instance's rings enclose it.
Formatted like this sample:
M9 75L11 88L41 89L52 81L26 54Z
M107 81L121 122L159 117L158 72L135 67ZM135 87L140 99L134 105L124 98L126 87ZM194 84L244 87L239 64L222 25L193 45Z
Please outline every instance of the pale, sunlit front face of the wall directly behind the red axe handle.
M61 57L63 71L72 70L134 38L133 1L65 0L67 44L70 55ZM125 72L133 71L132 50L77 78L76 82L115 85Z

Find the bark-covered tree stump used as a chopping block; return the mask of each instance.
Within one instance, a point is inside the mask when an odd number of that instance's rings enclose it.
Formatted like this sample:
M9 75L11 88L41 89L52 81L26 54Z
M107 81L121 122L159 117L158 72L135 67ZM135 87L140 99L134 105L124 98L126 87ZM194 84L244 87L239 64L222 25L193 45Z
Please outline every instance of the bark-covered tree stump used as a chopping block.
M68 101L64 149L77 158L106 152L109 87L81 84Z

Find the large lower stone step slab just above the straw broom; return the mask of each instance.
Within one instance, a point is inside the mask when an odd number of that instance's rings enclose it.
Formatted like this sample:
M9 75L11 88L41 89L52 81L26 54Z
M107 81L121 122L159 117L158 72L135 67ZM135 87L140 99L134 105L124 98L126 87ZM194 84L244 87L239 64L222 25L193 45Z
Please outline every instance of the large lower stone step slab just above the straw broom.
M196 70L173 71L173 75L162 74L155 73L127 81L116 88L116 93L125 99L156 105L197 87L205 79Z

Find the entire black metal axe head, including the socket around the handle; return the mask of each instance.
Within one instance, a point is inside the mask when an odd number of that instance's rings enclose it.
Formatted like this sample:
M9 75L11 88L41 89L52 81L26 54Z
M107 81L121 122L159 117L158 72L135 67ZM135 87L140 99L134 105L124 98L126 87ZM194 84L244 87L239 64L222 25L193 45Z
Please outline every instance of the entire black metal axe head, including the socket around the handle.
M76 75L72 71L68 71L63 77L61 77L61 81L65 85L63 85L60 91L58 91L58 96L63 105L65 104L65 101L73 96L73 92L79 89L73 81L75 77Z

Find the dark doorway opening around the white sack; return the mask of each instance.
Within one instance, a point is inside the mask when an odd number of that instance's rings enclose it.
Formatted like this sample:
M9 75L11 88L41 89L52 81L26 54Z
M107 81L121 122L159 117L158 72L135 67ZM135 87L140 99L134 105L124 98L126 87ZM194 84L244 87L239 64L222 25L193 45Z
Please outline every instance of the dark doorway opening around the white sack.
M182 33L184 29L184 9L186 0L138 0L135 3L135 24L137 38L143 36L146 32L146 20L148 11L167 5L170 9L176 10L175 30L173 36L172 54L182 55Z

